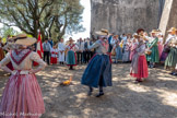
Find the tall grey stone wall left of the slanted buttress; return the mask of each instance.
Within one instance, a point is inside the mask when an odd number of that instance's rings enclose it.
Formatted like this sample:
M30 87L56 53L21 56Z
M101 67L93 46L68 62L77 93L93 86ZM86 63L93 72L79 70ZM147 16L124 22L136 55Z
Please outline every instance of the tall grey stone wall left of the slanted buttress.
M91 0L91 32L107 28L110 33L150 32L158 27L158 0Z

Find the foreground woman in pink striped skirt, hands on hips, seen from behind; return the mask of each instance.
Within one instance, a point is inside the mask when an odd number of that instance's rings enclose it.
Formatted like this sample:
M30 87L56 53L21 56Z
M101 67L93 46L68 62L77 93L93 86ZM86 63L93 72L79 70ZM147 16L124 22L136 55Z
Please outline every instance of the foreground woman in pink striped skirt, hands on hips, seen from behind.
M30 118L39 118L45 113L45 106L35 73L44 69L46 63L38 54L26 49L27 46L36 43L35 38L20 34L13 39L15 49L8 52L0 61L0 68L12 74L2 94L0 113L11 113L15 116L1 116L1 118L26 118L25 115L33 115ZM13 71L5 67L10 61ZM33 61L38 62L39 67L32 69Z

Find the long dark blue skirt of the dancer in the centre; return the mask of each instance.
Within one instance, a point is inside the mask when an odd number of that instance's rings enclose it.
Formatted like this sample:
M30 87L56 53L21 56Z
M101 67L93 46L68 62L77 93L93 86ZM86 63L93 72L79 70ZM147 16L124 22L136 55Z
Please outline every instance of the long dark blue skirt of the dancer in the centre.
M85 69L81 83L92 87L111 86L111 62L107 55L96 55Z

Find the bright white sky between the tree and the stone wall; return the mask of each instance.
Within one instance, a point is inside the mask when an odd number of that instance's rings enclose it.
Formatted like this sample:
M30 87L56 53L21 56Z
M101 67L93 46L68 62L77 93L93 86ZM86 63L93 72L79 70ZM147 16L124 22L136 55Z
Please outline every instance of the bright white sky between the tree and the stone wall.
M90 0L81 0L81 4L84 7L84 12L82 14L83 16L83 27L85 28L85 32L72 34L72 35L66 35L66 39L68 40L69 37L72 37L73 39L79 39L80 37L86 38L90 37L90 28L91 28L91 3ZM0 27L3 25L0 23ZM14 27L14 30L20 31L19 28Z

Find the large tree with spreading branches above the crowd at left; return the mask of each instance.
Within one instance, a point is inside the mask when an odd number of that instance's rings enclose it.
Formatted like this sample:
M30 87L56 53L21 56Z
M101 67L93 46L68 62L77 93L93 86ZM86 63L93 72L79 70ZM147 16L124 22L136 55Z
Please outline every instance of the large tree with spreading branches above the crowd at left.
M37 38L38 30L43 35L82 32L80 0L2 0L0 2L0 22L16 26Z

